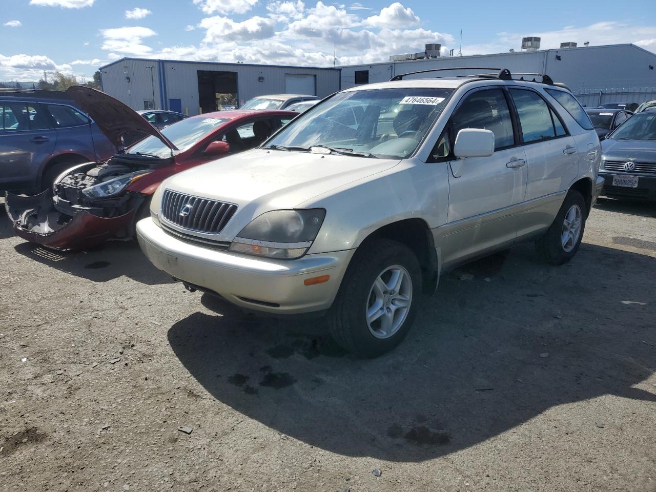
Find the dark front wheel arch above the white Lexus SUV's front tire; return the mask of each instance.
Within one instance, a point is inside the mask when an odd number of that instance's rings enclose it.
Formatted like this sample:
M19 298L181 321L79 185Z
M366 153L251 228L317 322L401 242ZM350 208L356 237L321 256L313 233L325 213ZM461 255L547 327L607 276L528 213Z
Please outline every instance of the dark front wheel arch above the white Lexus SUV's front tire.
M434 293L438 283L440 263L433 234L423 219L405 218L385 224L365 237L359 244L358 251L364 251L363 248L366 248L368 243L377 239L390 239L409 247L417 256L421 266L424 293Z

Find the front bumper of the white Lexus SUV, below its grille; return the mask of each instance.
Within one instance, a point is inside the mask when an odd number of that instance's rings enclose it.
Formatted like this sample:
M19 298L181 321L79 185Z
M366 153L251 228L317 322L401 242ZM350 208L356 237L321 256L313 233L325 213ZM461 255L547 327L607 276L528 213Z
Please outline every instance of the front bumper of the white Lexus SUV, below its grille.
M273 260L238 255L171 236L152 218L136 224L148 259L176 279L213 291L237 306L276 314L326 310L333 304L355 250ZM317 285L304 280L329 275Z

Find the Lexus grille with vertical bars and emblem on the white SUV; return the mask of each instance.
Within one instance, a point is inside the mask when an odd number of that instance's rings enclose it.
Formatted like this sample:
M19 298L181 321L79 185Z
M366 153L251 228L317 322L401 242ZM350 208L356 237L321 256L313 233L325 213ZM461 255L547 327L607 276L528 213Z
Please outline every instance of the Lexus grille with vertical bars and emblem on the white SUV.
M171 190L162 196L161 215L180 228L218 234L237 211L237 205Z

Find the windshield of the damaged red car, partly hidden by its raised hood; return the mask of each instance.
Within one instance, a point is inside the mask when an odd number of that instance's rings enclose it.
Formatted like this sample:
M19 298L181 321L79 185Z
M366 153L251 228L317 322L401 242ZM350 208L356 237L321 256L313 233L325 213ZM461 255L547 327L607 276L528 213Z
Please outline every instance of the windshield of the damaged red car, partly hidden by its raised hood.
M219 125L226 123L226 121L230 121L230 118L187 118L169 125L160 132L171 140L173 145L180 151L183 151L190 148ZM141 152L142 154L169 155L171 149L159 138L150 135L134 144L128 152L129 154Z

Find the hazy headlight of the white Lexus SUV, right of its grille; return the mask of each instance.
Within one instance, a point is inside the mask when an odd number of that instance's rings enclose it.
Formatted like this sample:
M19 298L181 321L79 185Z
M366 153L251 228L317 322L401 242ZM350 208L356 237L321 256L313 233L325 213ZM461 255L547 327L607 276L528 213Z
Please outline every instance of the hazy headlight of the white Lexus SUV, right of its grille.
M230 251L268 258L299 258L312 246L325 215L324 209L263 213L237 234Z

